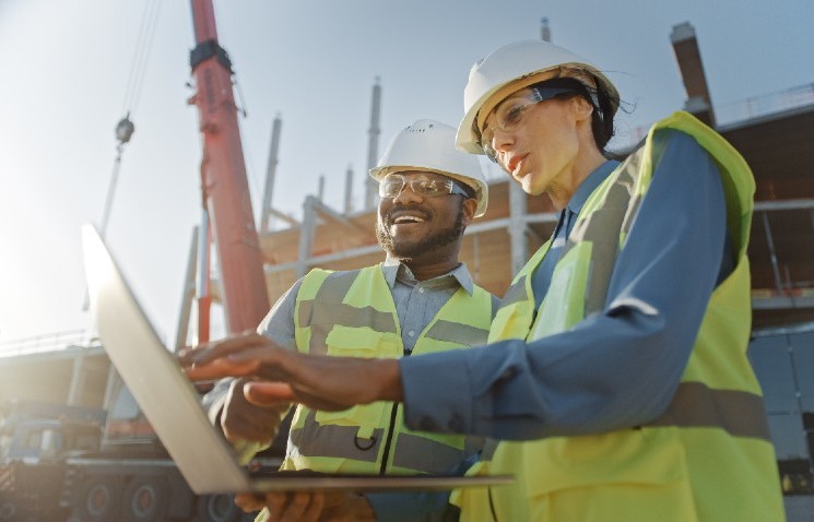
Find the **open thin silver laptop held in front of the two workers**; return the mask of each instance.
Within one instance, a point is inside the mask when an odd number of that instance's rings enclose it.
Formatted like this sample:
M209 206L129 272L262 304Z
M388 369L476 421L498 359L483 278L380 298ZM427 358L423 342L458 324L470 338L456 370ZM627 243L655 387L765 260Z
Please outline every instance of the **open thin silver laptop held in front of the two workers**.
M252 477L210 424L200 396L139 306L92 225L82 229L91 309L104 347L196 494L439 490L508 484L510 475L404 476L280 472Z

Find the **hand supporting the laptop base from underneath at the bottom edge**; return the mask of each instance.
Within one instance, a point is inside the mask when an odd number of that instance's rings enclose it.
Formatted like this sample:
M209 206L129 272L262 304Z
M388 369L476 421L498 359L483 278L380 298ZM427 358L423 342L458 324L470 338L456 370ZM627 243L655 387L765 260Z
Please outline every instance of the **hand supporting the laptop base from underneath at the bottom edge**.
M362 495L345 493L270 493L238 495L246 512L268 508L267 522L375 522L373 507Z

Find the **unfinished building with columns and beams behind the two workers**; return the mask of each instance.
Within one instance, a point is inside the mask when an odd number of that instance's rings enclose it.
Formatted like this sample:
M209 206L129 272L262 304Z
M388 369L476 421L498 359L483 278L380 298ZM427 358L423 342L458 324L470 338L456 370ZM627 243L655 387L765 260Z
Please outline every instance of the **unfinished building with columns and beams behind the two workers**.
M545 31L544 31L545 34ZM701 55L689 24L671 35L686 88L685 109L716 128L751 165L756 179L748 257L752 268L753 340L750 354L764 388L769 426L787 495L789 520L814 512L814 84L717 108L707 87ZM715 79L713 72L710 79ZM373 90L368 166L378 158L381 87ZM351 209L347 174L345 207L335 210L318 195L304 201L300 221L272 206L280 120L272 130L271 158L259 228L269 297L273 302L310 268L356 269L384 260L374 234L376 187L365 187L365 207ZM515 274L551 235L557 214L546 198L529 197L506 177L489 182L488 211L467 228L460 259L476 283L502 296ZM271 223L274 226L271 226ZM282 223L282 226L281 226ZM194 251L194 249L193 249ZM692 257L687 252L687 257ZM688 261L691 261L688 259ZM194 310L194 270L190 263L177 345L186 344ZM212 281L213 298L219 283ZM98 348L86 357L42 354L26 363L0 364L0 395L28 388L25 364L62 376L64 400L96 405L113 370ZM48 366L50 365L50 366ZM42 373L40 373L42 375ZM70 377L69 377L70 376ZM78 383L81 380L81 383ZM807 510L807 511L806 511ZM805 513L809 514L805 514Z

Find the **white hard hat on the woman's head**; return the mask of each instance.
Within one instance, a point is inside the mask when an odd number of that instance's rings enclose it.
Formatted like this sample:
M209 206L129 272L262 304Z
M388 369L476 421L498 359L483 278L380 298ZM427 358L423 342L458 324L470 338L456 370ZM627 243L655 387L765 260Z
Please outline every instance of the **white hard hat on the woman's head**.
M583 74L580 74L583 72ZM590 73L600 85L585 72ZM477 132L479 119L485 119L509 94L556 75L574 76L603 90L612 100L613 114L618 106L618 92L600 70L568 49L544 40L523 40L500 47L482 58L469 73L463 90L464 116L458 126L456 146L472 154L483 154ZM511 85L510 91L505 90ZM500 96L494 96L495 94ZM489 99L493 98L494 99ZM479 118L479 112L483 111ZM482 121L481 121L482 122Z

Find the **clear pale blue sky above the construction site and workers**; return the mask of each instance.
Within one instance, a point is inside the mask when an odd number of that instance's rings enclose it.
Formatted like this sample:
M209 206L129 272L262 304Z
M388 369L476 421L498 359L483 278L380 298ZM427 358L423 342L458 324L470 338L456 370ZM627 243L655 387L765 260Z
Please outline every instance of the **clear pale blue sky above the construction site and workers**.
M125 107L143 3L0 0L0 342L90 325L80 227L101 221L127 108L135 133L108 239L158 332L175 337L200 218L198 117L186 105L193 37L189 2L161 2L141 96ZM217 0L215 11L248 112L256 210L280 112L273 203L296 217L320 175L340 207L349 165L361 202L374 78L384 151L417 118L457 124L471 64L539 38L542 16L556 44L597 62L635 104L623 137L683 106L670 44L682 22L695 26L717 106L814 82L811 0Z

